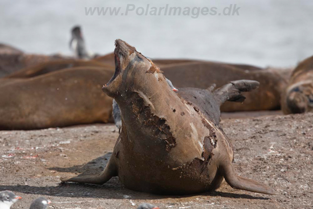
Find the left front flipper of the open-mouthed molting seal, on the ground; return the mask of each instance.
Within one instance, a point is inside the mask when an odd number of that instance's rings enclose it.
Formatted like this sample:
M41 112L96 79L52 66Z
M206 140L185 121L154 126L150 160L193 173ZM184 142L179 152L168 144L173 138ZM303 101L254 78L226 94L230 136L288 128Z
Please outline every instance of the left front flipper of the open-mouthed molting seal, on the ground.
M61 181L103 185L104 183L109 181L113 176L116 175L117 172L115 163L112 162L110 159L105 169L98 175L79 175L79 176L61 177Z

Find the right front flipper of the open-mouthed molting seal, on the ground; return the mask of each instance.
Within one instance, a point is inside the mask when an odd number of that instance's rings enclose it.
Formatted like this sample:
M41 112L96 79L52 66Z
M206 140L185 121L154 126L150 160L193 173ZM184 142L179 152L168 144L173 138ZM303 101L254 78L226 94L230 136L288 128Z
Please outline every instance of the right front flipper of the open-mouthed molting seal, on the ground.
M224 162L219 166L219 172L224 176L226 182L233 188L253 191L264 194L275 194L275 191L257 181L238 176L230 162Z

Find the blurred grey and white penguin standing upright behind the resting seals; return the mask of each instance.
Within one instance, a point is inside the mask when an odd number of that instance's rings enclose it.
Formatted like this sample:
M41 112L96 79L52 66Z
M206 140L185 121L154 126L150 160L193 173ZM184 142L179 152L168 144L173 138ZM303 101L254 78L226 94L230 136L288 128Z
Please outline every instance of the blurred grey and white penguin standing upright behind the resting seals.
M75 26L71 31L71 40L69 48L74 51L75 56L79 59L89 59L90 56L86 50L85 41L80 26Z

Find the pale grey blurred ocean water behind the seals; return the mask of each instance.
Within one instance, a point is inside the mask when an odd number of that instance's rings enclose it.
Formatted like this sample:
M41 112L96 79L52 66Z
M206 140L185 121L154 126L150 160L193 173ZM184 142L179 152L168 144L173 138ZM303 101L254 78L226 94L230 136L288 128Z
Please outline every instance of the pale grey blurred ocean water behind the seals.
M217 7L239 16L87 16L85 7ZM30 53L70 54L79 24L88 50L105 54L120 38L152 58L193 58L289 67L313 55L313 0L0 0L0 43Z

